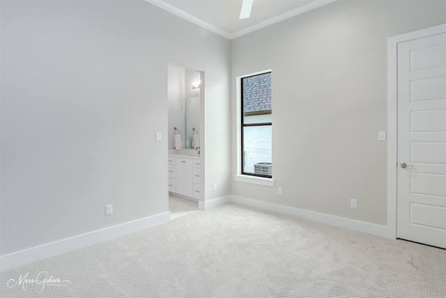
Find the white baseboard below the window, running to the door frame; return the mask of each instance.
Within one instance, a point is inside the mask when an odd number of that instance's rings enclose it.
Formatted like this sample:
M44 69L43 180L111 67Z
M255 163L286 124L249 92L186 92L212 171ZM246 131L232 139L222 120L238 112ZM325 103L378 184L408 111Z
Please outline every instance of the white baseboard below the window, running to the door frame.
M289 207L280 204L274 204L270 202L239 197L236 195L230 195L229 197L230 198L226 200L229 200L230 202L234 202L236 204L243 204L249 207L256 207L266 211L273 211L280 214L286 214L289 216L305 218L308 219L309 221L326 223L328 225L334 225L339 228L346 228L349 230L355 230L357 232L372 234L379 237L395 239L394 237L392 237L392 232L389 231L389 228L385 225L376 225L374 223L366 223L364 221L355 221L349 218L332 216L329 214L323 214L305 209L299 209L295 207Z

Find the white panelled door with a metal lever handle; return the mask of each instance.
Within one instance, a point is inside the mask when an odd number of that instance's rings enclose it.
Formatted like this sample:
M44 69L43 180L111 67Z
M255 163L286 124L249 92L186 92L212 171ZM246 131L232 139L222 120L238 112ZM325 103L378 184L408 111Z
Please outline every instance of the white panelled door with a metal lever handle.
M397 49L397 237L446 248L446 33Z

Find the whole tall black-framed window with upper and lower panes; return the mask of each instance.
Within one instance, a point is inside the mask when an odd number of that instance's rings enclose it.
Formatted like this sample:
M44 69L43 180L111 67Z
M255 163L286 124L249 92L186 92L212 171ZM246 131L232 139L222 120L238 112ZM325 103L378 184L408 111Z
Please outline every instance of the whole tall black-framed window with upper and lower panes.
M271 73L242 77L242 174L272 178Z

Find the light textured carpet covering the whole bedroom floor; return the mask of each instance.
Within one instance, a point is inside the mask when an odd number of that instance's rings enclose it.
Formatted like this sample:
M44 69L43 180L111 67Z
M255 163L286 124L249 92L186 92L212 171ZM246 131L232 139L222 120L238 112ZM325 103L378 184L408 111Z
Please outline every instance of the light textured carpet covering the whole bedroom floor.
M0 283L1 297L446 297L446 251L225 204Z

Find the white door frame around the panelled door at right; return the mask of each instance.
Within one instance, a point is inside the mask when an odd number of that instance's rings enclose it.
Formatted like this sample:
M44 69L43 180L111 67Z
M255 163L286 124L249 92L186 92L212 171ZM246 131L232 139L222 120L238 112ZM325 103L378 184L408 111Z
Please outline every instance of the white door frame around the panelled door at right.
M398 81L397 46L410 40L446 33L446 24L387 38L387 237L397 239Z

